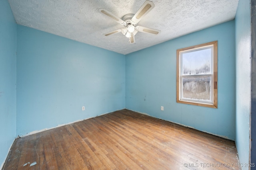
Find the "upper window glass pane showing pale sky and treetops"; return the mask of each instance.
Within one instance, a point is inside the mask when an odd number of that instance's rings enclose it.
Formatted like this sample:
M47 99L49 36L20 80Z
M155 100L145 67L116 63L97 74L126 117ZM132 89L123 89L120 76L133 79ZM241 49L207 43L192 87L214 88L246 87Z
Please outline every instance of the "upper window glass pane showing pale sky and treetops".
M211 74L212 48L182 53L182 74Z

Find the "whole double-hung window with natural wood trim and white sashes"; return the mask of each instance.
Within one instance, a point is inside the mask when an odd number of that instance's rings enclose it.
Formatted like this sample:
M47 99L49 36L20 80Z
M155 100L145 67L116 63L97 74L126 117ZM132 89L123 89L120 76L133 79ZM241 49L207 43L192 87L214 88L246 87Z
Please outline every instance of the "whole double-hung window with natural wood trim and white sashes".
M177 50L177 102L217 108L218 41Z

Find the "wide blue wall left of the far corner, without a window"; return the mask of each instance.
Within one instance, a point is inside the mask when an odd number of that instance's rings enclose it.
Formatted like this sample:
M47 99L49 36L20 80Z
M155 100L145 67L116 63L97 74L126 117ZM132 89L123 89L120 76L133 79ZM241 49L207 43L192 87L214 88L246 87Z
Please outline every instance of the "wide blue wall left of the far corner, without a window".
M17 135L125 108L124 55L17 29Z

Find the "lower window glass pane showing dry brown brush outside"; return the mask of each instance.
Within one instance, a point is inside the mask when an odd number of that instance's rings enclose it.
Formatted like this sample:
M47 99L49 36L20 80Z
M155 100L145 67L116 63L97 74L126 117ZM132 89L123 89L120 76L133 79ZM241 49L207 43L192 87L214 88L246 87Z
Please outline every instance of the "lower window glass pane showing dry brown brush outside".
M182 98L211 102L211 76L182 77Z

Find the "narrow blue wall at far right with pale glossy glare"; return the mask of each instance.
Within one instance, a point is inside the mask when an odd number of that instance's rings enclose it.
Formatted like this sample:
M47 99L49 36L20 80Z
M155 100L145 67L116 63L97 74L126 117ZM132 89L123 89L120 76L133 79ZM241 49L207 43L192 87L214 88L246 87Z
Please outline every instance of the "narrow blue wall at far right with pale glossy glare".
M245 164L250 152L250 0L239 0L235 22L236 148L240 162Z

